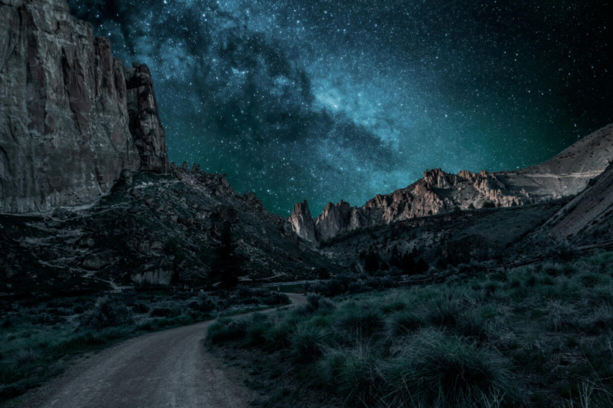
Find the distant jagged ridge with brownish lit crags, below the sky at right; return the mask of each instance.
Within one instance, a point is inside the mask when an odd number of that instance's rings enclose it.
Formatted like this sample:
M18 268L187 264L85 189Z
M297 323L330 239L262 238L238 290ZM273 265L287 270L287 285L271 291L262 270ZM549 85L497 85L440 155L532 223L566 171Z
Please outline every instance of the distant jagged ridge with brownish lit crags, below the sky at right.
M576 195L613 160L613 124L581 138L562 153L538 165L505 172L457 175L440 168L391 194L376 195L361 207L341 200L328 203L311 217L305 200L294 206L288 221L294 232L313 244L343 232L386 225L414 217L483 206L509 207Z

